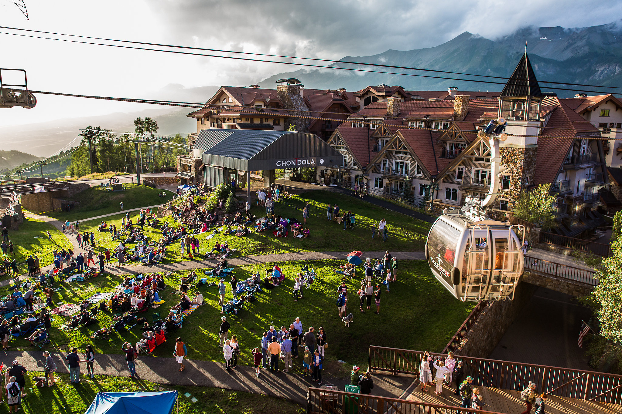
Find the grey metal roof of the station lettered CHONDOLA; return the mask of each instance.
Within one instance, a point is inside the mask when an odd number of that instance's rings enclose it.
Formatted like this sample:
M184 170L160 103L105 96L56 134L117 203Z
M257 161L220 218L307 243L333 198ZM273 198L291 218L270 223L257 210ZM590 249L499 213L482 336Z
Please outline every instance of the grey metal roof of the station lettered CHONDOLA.
M262 130L202 130L194 145L205 164L256 171L341 165L341 154L312 133Z

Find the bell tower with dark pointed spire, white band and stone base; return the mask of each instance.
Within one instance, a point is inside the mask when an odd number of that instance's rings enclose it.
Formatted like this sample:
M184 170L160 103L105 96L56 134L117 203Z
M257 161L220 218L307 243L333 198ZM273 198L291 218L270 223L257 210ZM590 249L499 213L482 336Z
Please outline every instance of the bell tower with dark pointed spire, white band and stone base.
M513 210L521 191L534 184L543 97L525 51L499 96L498 115L507 121L508 139L499 142L503 168L498 178L497 208L507 205Z

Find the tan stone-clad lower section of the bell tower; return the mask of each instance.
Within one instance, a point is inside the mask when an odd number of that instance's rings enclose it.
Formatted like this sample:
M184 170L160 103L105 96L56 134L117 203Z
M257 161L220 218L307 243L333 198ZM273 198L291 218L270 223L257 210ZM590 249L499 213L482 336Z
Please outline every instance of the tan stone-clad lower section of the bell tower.
M503 175L511 176L509 182L509 190L501 188L503 180L499 182L499 194L494 201L494 207L498 208L501 199L508 200L508 210L514 210L518 203L521 191L526 188L525 183L527 178L531 183L534 179L534 173L536 171L536 148L516 148L516 147L501 147L499 148L499 155L501 155L501 165L509 168L503 172Z

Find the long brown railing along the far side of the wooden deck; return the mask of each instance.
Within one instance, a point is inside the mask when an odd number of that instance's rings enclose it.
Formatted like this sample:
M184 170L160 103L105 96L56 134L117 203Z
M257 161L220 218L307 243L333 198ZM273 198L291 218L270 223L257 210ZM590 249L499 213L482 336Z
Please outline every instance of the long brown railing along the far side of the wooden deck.
M372 345L369 346L369 369L394 375L419 376L423 354L422 351ZM445 354L430 355L434 359L446 358ZM529 381L533 381L538 392L581 400L622 403L621 375L468 356L455 358L463 361L465 376L474 377L475 384L483 387L523 390Z

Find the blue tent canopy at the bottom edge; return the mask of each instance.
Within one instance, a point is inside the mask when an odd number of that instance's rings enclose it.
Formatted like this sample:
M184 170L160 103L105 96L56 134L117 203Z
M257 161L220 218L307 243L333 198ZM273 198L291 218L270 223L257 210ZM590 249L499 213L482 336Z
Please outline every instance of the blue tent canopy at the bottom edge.
M170 414L177 391L98 392L85 414Z

